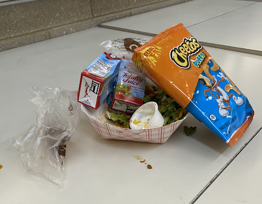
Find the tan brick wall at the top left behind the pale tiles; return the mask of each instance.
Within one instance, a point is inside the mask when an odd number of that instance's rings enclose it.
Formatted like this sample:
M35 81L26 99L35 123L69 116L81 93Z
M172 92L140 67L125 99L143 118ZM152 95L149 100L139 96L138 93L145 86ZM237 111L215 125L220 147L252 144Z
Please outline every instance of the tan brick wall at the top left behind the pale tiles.
M3 6L0 7L0 51L187 1L39 0Z

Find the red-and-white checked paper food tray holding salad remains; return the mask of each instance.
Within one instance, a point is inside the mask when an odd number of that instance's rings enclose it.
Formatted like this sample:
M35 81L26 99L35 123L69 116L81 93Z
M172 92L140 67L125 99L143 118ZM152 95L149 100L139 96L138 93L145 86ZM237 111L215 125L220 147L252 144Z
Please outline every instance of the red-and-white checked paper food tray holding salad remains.
M104 110L106 104L103 103L97 110L88 106L81 105L81 110L88 117L91 124L95 127L102 138L115 140L129 140L137 142L150 142L163 144L177 130L179 125L186 119L187 115L169 125L146 130L131 130L114 126L114 122L105 117ZM104 121L104 122L101 122Z

